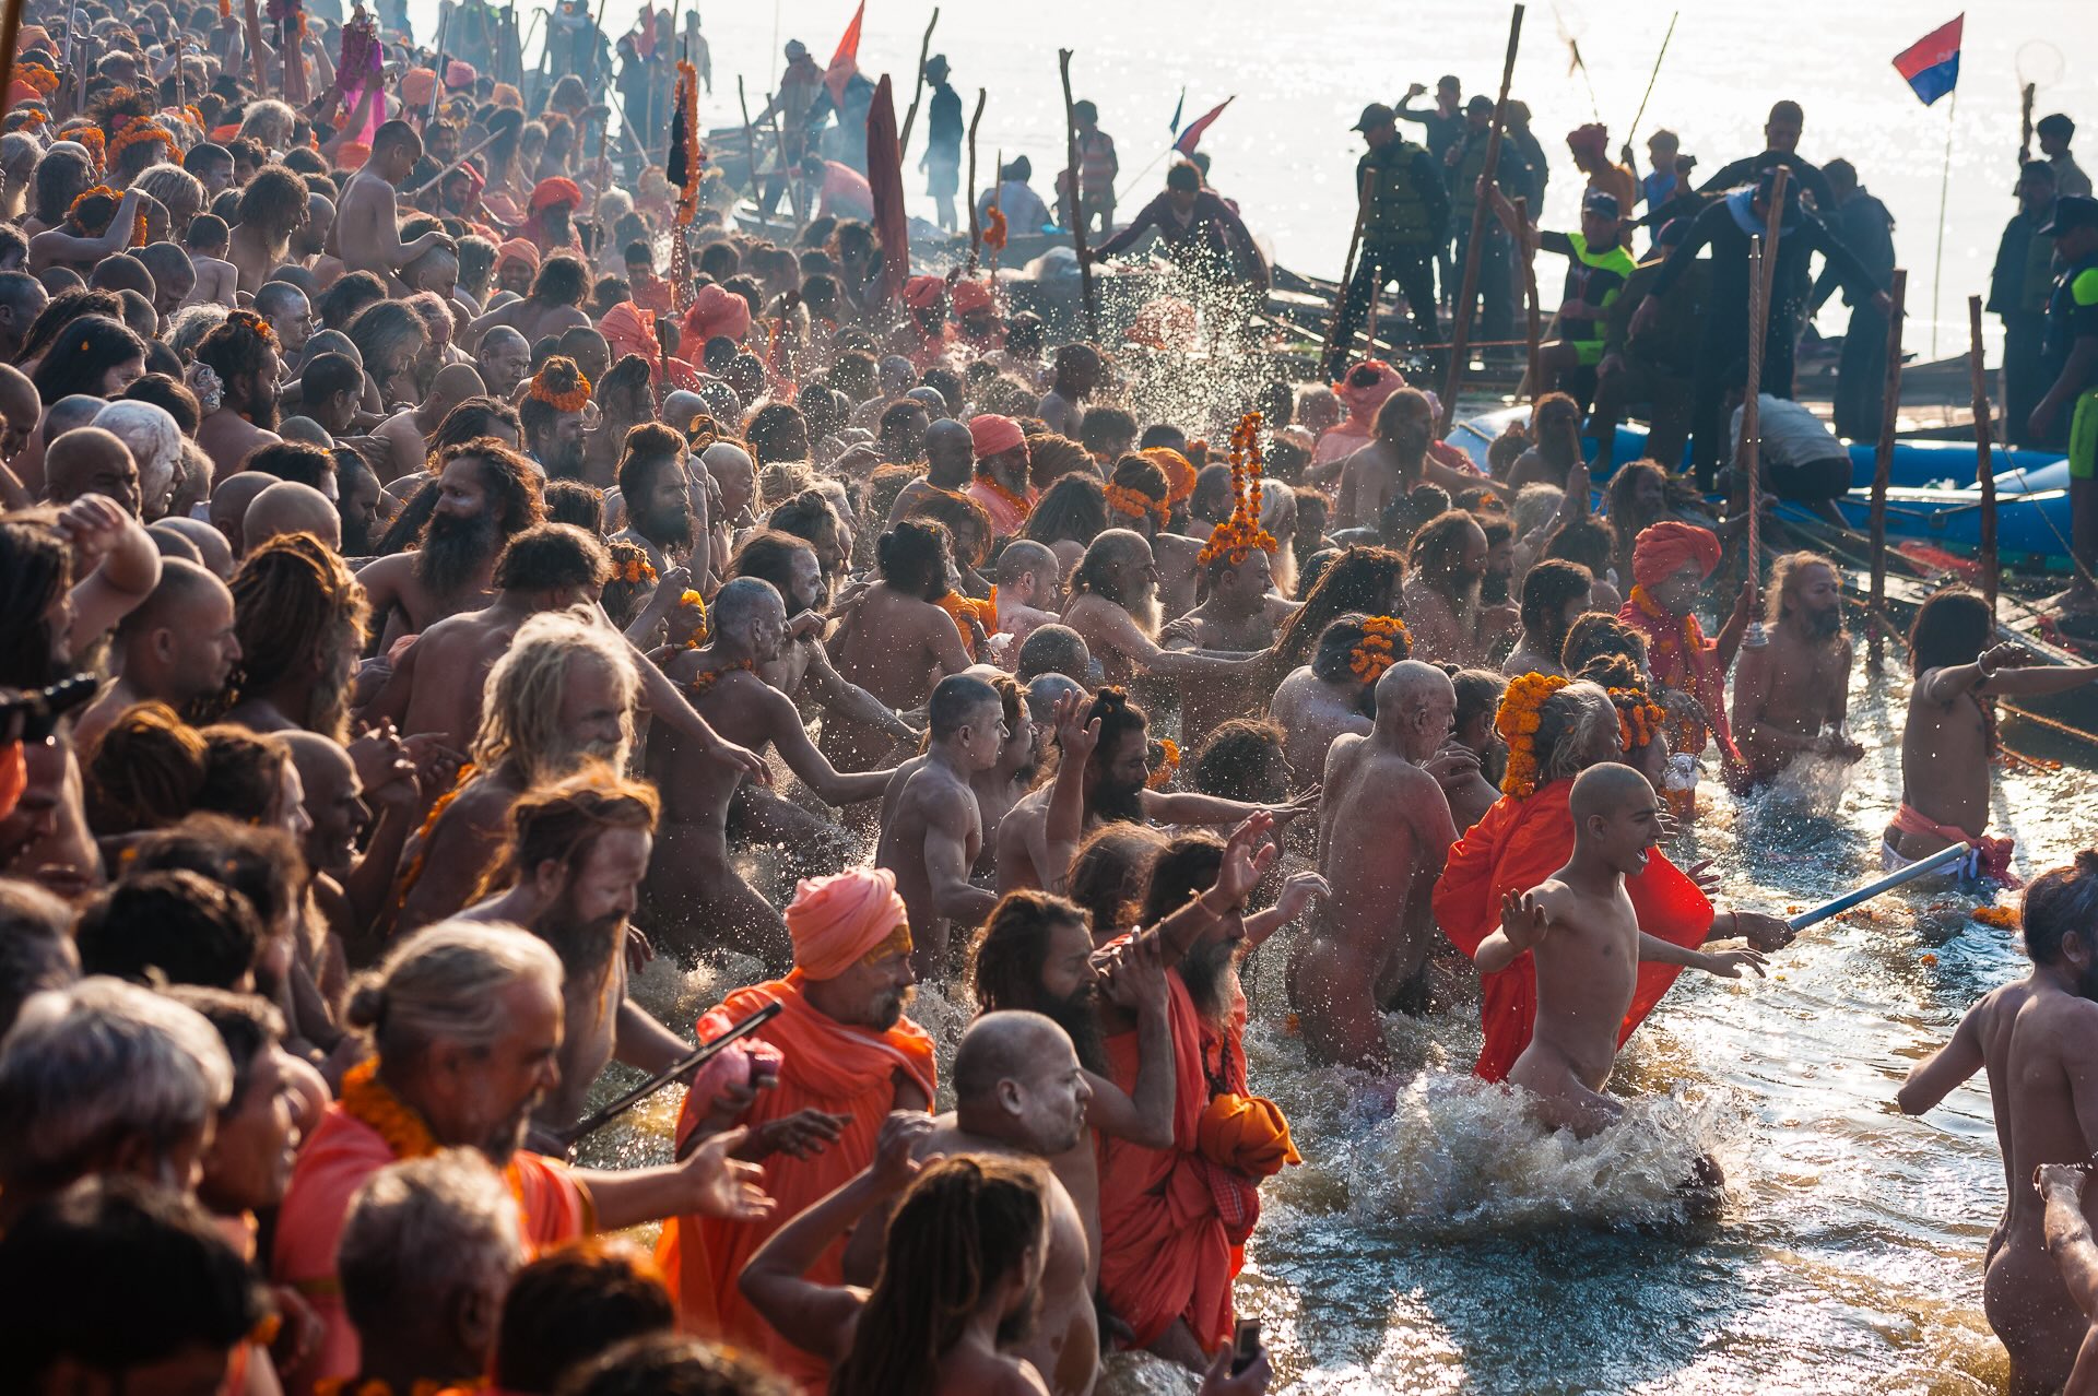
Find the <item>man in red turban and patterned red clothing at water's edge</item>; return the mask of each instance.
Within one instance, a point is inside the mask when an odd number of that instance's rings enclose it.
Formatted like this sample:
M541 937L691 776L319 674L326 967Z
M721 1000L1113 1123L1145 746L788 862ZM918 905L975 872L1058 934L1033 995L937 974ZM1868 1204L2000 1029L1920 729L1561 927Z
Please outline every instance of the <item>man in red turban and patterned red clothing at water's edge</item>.
M1674 715L1668 723L1670 746L1701 755L1706 736L1718 742L1720 767L1727 784L1748 778L1741 752L1733 746L1733 729L1727 725L1727 671L1733 669L1733 654L1741 648L1741 633L1748 629L1750 606L1754 606L1754 585L1741 587L1741 597L1727 616L1718 639L1706 639L1691 606L1697 589L1718 568L1718 535L1697 524L1674 520L1649 524L1639 530L1632 543L1632 587L1630 599L1618 618L1647 637L1647 671L1662 688L1689 694L1697 700L1701 715ZM1662 704L1672 706L1672 704Z

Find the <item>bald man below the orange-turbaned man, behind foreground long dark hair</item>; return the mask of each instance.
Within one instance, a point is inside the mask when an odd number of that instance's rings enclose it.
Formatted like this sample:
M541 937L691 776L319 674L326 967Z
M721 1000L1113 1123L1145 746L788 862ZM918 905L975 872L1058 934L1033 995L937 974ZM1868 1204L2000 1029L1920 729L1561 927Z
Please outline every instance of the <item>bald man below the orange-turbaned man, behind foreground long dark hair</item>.
M1087 1138L1093 1088L1070 1035L1039 1012L986 1012L969 1023L955 1050L955 1109L934 1121L913 1151L990 1153L1053 1163ZM1001 1352L1026 1358L1053 1396L1085 1396L1099 1375L1099 1316L1093 1287L1099 1258L1070 1191L1045 1172L1043 1209L1049 1253L1043 1258L1041 1308L1032 1331ZM845 1281L871 1285L881 1266L887 1214L860 1222L845 1249Z

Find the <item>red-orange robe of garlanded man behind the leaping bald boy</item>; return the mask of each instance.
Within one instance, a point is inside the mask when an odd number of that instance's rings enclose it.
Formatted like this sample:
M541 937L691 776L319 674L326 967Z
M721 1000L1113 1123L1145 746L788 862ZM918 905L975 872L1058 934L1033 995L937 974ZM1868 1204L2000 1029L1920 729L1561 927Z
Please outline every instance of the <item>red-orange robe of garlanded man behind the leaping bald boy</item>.
M1435 882L1435 922L1452 945L1477 958L1479 943L1500 929L1500 897L1529 891L1565 868L1574 855L1574 813L1567 809L1571 794L1571 780L1540 786L1525 801L1504 794L1452 845L1450 861ZM1712 929L1712 901L1660 849L1651 851L1639 876L1624 878L1624 891L1641 931L1683 947L1704 945L1706 931ZM1618 1046L1653 1012L1678 973L1680 964L1649 960L1639 966ZM1479 977L1485 1046L1479 1048L1473 1071L1487 1082L1504 1079L1529 1046L1536 1021L1538 962L1525 950L1508 968Z

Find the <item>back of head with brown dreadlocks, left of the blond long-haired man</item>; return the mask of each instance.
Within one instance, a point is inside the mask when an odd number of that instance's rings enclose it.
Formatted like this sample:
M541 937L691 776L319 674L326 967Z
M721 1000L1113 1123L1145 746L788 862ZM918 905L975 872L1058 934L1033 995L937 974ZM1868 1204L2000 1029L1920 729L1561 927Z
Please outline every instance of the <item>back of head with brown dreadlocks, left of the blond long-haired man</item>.
M311 532L248 553L233 574L241 662L227 721L346 740L350 669L367 614L365 589Z

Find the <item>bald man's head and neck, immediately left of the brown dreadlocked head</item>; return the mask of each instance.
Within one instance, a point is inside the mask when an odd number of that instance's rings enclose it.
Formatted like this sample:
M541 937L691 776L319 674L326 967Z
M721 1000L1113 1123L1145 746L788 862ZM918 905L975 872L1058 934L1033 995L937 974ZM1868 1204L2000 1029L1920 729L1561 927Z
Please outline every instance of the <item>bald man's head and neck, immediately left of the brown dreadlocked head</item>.
M115 681L80 715L73 744L90 750L134 702L191 711L224 692L239 658L227 585L193 562L162 558L159 585L117 623L109 648Z

